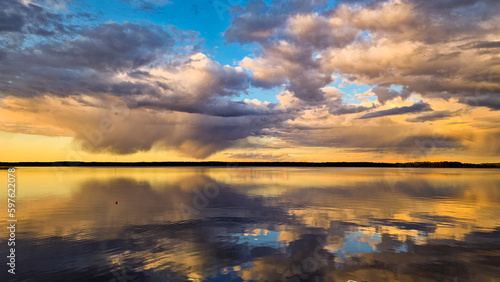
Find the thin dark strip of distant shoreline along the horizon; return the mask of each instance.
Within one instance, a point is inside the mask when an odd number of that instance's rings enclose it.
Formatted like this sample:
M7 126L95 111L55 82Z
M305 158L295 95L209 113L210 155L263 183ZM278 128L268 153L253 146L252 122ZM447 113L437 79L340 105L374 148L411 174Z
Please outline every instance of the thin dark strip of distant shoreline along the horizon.
M8 167L399 167L399 168L500 168L500 163L461 162L0 162Z

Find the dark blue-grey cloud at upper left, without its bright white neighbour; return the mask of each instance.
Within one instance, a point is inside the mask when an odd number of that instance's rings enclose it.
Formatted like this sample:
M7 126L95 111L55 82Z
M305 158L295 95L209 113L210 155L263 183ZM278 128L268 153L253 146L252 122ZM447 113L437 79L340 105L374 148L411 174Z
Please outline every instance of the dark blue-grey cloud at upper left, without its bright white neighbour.
M48 40L17 52L5 48L0 89L17 96L154 91L140 82L127 87L115 76L156 62L164 52L173 52L174 43L173 36L157 26L106 23L62 42Z

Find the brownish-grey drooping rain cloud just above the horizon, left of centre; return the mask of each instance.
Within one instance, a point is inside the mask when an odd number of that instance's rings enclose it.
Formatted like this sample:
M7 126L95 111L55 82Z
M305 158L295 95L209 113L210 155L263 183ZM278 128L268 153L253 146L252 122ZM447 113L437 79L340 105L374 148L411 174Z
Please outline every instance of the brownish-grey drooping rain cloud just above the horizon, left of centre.
M84 149L91 152L131 154L149 151L157 145L166 149L176 148L184 155L204 159L233 146L239 139L262 135L262 128L272 124L271 120L257 117L202 116L187 116L180 121L156 118L156 123L152 123L151 120L155 118L148 116L143 113L142 116L133 117L128 123L116 124L116 130L106 134L95 146L86 146ZM92 129L90 126L86 125L86 129L82 130L84 134L77 136L78 142L88 141L85 132Z

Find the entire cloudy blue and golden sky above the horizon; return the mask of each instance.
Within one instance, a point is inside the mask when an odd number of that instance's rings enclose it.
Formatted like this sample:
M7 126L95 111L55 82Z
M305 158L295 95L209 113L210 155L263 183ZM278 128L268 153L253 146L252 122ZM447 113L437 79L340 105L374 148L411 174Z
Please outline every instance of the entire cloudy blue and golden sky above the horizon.
M0 5L0 161L499 162L499 1Z

